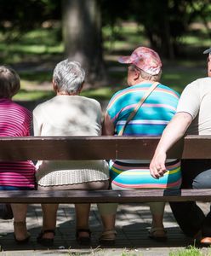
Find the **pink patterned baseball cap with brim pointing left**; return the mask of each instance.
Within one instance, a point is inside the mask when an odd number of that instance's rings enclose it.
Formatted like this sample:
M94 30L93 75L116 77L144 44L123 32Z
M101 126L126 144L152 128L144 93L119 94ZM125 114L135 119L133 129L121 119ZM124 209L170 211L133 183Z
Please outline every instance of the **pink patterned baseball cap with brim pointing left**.
M162 61L157 52L147 47L138 47L134 49L132 55L121 56L118 61L125 64L134 64L151 75L157 75L162 67Z

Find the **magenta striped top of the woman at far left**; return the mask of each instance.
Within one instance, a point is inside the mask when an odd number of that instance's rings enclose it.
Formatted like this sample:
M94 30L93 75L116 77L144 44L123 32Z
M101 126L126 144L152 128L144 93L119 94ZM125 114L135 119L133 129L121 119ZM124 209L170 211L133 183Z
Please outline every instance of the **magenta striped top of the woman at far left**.
M10 99L0 99L0 137L30 135L31 113ZM0 186L34 188L35 166L28 161L0 161Z

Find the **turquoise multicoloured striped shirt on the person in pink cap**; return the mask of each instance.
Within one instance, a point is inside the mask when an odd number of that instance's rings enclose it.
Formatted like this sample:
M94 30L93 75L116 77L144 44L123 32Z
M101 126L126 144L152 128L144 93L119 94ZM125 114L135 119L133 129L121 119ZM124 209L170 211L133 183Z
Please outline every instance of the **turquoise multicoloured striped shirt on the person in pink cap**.
M107 107L115 134L122 129L129 114L140 102L151 83L135 84L112 96ZM163 84L145 100L134 118L126 126L124 136L161 136L164 128L176 113L179 95ZM180 187L180 161L168 160L168 172L155 179L149 171L149 160L111 160L110 175L112 184L119 188L175 189Z

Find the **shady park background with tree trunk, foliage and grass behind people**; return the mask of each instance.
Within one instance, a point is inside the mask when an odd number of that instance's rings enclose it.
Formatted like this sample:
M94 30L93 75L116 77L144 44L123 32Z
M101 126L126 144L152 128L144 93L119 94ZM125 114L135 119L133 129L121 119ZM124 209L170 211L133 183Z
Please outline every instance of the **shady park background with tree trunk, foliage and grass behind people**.
M20 74L16 101L54 96L52 73L67 56L86 70L83 95L107 101L127 86L118 56L148 46L163 60L161 82L181 92L207 75L210 12L209 0L1 0L0 63Z

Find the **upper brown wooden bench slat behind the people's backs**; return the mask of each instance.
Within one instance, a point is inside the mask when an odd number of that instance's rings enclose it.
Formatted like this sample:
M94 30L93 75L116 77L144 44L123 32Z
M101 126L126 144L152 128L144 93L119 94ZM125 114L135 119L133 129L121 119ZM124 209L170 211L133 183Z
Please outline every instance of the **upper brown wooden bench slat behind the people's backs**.
M159 137L0 137L0 160L151 159ZM185 137L168 158L211 159L211 137Z

